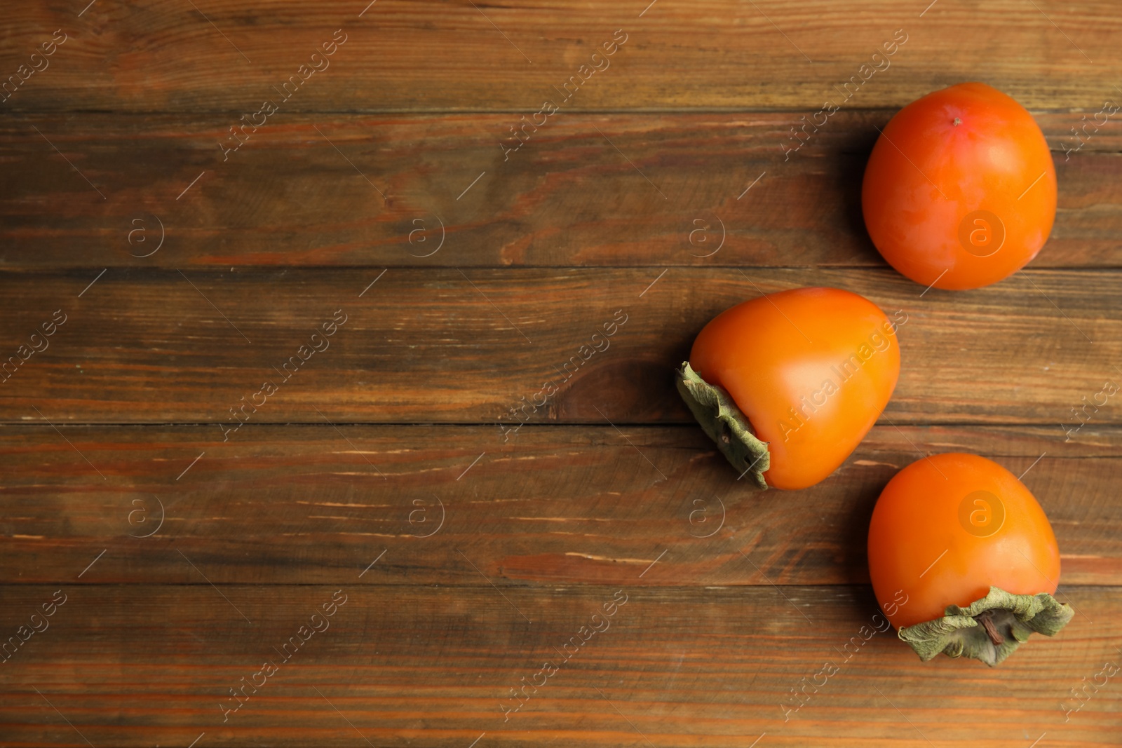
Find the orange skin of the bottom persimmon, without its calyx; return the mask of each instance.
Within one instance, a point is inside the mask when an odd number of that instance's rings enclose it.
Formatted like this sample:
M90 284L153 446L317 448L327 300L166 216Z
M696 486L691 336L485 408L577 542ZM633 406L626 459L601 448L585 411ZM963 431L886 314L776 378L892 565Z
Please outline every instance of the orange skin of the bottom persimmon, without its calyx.
M966 501L978 491L1000 506ZM964 501L975 516L964 511ZM935 454L884 487L868 525L868 575L885 616L900 628L939 618L948 604L966 607L990 585L1051 594L1059 547L1043 509L1013 473L976 454Z

